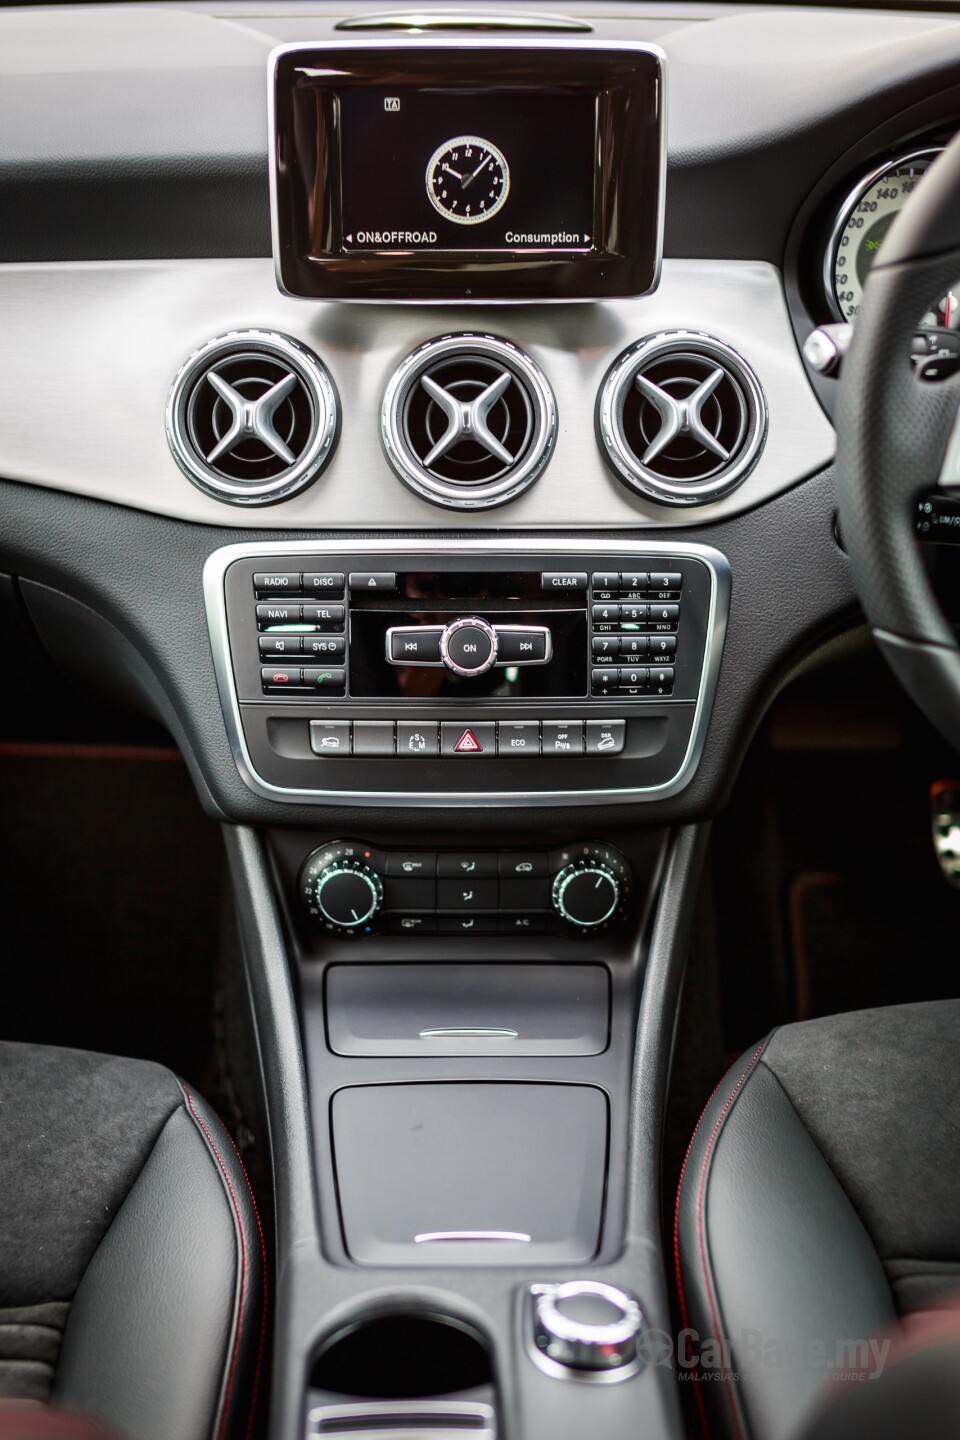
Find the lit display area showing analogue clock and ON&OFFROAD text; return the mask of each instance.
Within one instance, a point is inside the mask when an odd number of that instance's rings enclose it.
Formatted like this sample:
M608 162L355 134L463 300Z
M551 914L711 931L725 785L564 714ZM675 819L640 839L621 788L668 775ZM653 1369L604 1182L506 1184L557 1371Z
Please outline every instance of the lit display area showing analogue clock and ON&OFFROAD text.
M340 96L343 249L589 251L597 96Z

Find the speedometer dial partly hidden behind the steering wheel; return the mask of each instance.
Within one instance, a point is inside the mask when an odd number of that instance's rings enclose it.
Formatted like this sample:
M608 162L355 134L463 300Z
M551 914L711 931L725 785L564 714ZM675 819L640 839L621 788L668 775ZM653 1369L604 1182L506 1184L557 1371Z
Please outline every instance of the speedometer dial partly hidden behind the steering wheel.
M826 256L826 292L841 320L855 320L861 308L866 272L877 259L884 236L934 163L938 150L918 150L879 170L856 187L841 210ZM956 325L956 298L941 301L924 317L924 325Z

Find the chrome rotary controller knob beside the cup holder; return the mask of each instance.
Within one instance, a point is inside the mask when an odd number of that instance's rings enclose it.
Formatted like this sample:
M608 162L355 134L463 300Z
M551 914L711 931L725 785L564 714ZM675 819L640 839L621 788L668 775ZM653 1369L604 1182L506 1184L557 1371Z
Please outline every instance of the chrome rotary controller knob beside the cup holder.
M597 1280L535 1284L534 1355L584 1378L626 1378L639 1367L643 1316L633 1296ZM545 1367L544 1367L545 1368Z

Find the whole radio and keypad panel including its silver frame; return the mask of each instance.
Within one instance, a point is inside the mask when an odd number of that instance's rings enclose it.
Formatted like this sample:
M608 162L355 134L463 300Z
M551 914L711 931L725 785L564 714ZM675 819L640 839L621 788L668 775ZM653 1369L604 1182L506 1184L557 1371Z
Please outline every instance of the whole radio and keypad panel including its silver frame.
M210 556L233 753L345 805L666 798L702 749L730 572L705 546L265 541Z

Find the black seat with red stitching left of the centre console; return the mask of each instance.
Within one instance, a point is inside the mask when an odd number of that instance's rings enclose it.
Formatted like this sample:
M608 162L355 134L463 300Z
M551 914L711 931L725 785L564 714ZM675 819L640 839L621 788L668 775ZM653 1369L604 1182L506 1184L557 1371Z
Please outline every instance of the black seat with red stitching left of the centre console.
M262 1319L256 1208L203 1100L161 1066L0 1044L0 1401L226 1440Z

